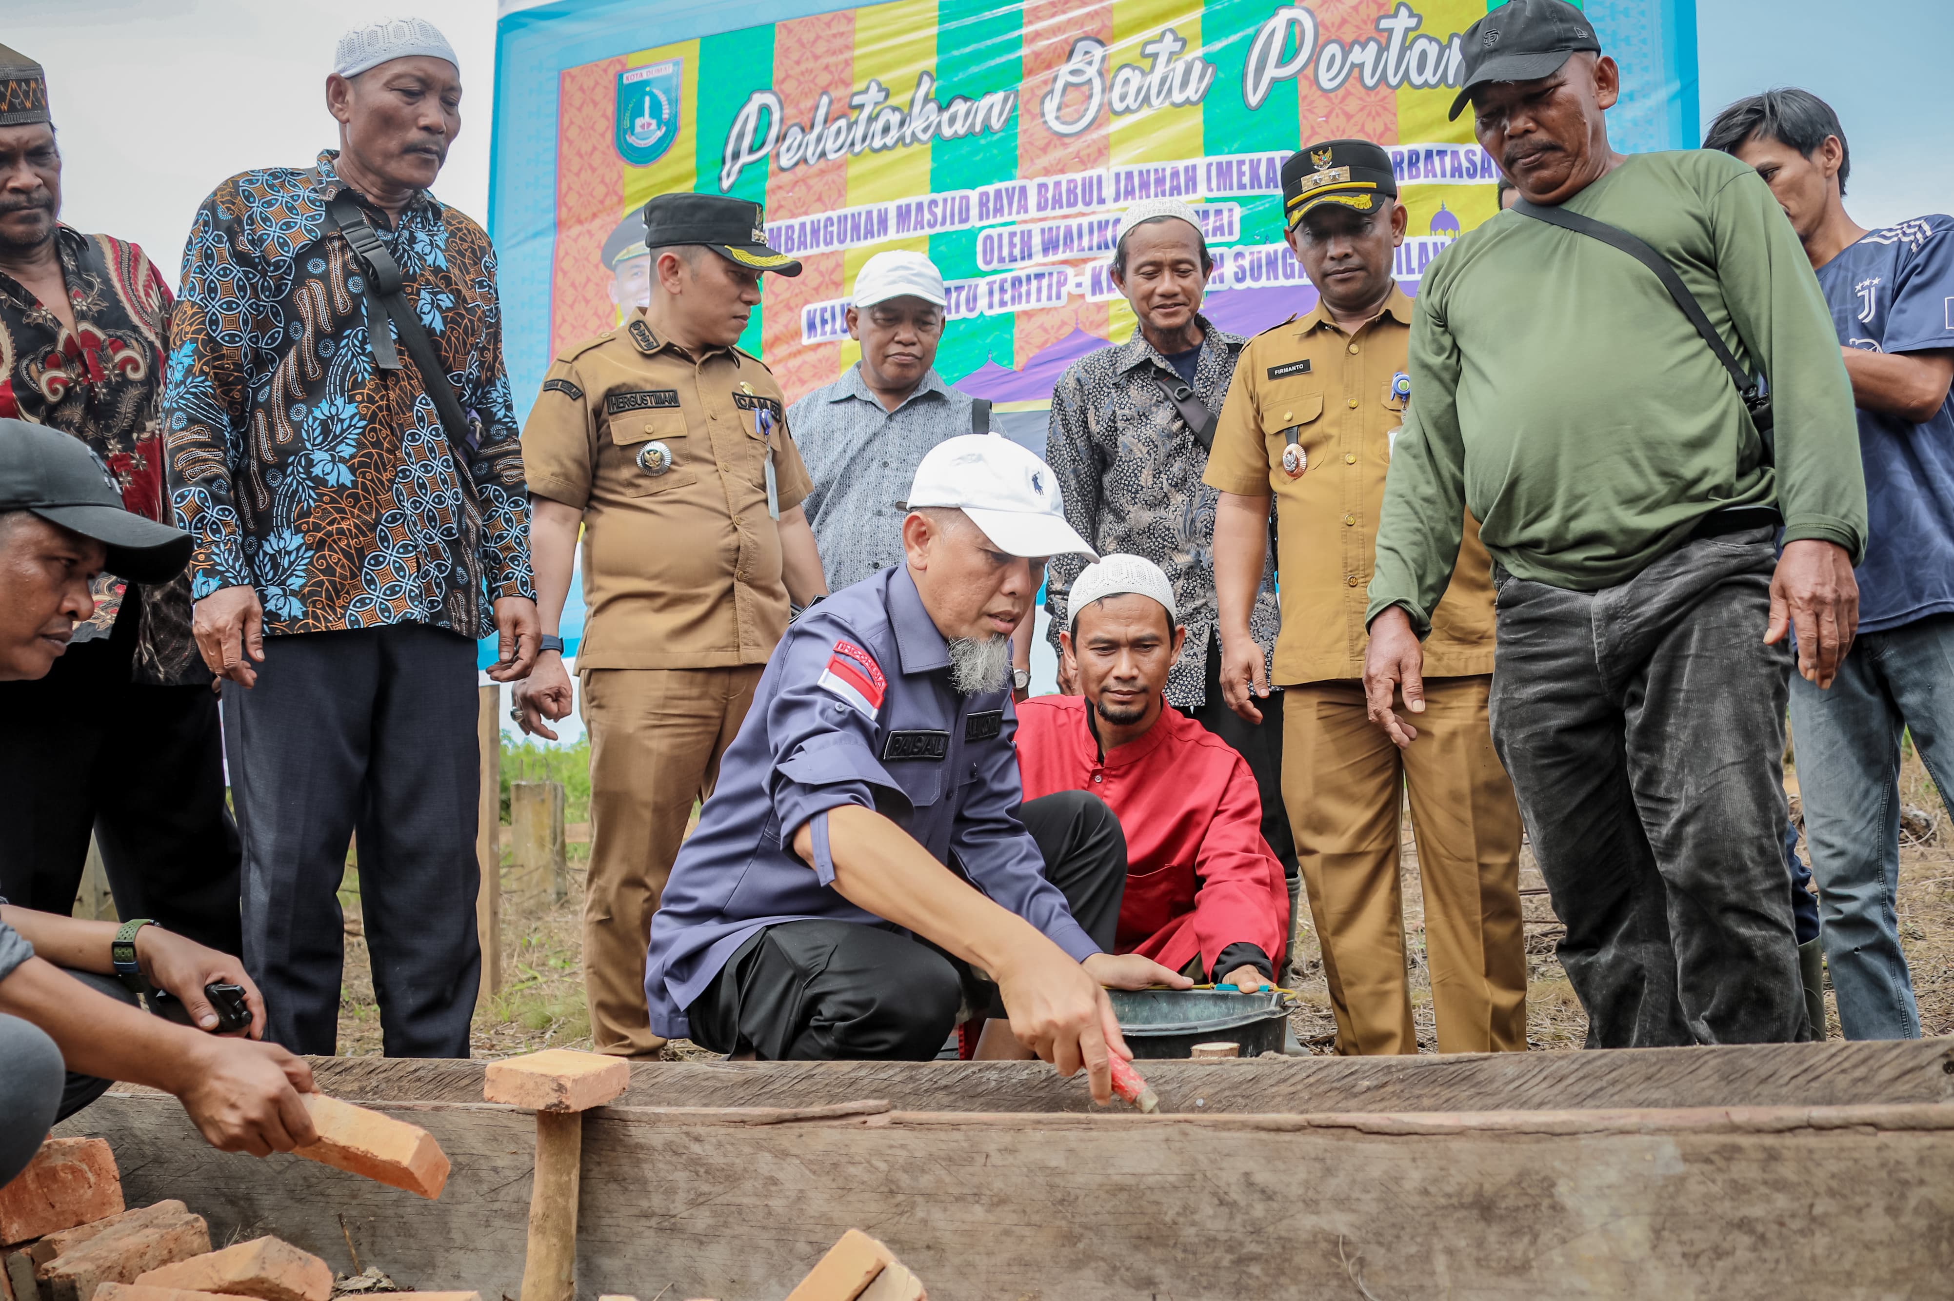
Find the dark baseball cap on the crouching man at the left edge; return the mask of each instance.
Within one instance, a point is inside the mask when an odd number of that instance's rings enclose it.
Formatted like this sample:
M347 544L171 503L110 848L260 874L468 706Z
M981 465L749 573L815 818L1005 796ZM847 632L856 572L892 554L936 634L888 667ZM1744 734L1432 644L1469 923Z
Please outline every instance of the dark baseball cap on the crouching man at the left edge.
M190 533L125 510L121 488L72 434L0 420L0 510L31 510L109 549L107 570L131 582L168 582L190 563Z

